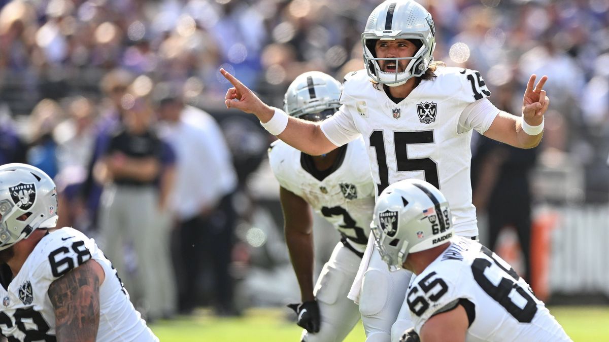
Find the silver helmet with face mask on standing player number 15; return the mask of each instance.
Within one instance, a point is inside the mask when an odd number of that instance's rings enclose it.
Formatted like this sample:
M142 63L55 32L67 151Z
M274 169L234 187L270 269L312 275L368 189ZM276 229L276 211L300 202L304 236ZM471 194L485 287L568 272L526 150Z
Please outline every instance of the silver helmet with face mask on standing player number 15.
M413 57L377 58L377 40L406 39L420 41ZM362 33L364 68L368 76L376 82L388 86L403 85L412 77L419 77L427 71L434 60L435 26L431 14L414 0L387 0L378 5L368 17ZM381 71L378 61L391 60L398 65L400 60L409 60L402 72Z

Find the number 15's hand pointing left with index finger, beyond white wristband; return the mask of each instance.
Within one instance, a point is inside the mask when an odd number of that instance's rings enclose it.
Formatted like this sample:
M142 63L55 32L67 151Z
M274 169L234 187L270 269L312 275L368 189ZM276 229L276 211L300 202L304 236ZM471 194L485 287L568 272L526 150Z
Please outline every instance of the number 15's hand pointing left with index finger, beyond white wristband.
M228 71L220 69L220 73L233 85L233 88L228 89L224 99L224 104L227 108L236 108L245 113L255 114L262 122L270 120L274 113L270 106L262 102L253 91Z

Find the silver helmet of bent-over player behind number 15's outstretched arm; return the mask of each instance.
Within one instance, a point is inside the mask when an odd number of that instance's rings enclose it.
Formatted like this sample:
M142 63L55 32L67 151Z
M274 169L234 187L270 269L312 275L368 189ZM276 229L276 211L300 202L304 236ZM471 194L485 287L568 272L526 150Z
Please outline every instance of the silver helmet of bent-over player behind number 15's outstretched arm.
M319 71L305 72L287 87L283 107L290 116L320 121L336 113L341 91L342 85L334 77Z

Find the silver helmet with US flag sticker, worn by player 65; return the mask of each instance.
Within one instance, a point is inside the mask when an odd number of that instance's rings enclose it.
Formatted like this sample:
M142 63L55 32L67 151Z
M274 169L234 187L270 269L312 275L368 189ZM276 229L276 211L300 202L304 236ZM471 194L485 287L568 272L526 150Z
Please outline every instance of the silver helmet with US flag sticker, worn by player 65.
M403 180L376 200L370 228L389 270L402 268L409 253L429 250L454 235L448 201L426 181Z

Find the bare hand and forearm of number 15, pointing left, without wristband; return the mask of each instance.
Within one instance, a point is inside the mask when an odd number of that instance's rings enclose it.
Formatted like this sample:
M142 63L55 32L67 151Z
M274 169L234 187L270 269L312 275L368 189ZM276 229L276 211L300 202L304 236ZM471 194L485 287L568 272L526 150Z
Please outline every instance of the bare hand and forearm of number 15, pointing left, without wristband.
M274 108L262 102L253 91L228 71L220 69L220 72L233 85L228 89L224 99L227 108L236 108L245 113L254 114L263 124L272 119L275 114ZM287 126L277 134L277 138L302 152L315 156L328 153L337 147L326 138L319 125L295 117L287 118Z

